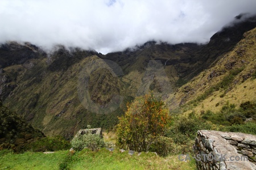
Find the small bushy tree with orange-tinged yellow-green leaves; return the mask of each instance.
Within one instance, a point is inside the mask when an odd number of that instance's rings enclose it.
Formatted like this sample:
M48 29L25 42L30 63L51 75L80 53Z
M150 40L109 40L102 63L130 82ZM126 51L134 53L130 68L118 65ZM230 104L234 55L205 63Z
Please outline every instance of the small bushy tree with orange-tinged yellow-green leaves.
M162 100L154 95L136 97L127 106L125 115L119 117L117 125L117 145L134 151L148 151L167 124L168 109Z

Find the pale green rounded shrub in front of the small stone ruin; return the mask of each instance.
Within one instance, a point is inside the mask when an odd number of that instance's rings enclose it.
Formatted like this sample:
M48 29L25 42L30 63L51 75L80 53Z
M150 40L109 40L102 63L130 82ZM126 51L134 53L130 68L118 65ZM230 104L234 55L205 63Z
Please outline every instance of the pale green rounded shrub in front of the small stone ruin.
M73 138L71 141L71 146L74 150L81 151L86 147L92 151L95 151L105 147L105 143L104 140L96 134L84 134L79 135L77 138Z

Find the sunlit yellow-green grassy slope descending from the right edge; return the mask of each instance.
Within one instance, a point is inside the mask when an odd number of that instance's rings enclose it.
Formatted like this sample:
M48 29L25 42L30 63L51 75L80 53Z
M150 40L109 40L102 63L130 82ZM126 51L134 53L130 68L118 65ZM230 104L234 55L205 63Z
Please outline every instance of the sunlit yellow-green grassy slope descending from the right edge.
M220 111L227 103L239 104L256 100L256 28L243 34L243 39L216 61L212 67L180 87L170 96L170 108L184 105L184 111Z

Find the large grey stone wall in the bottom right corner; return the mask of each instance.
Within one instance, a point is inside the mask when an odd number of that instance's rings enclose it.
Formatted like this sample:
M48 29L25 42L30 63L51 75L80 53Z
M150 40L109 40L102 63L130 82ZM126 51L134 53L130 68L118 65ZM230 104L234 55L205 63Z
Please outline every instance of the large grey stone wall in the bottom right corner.
M193 146L198 169L256 169L256 136L199 130Z

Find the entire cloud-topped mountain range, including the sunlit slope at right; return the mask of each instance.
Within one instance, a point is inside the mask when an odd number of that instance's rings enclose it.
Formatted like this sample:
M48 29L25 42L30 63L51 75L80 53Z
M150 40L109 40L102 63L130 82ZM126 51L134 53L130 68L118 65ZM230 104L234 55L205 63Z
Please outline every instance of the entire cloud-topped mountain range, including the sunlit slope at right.
M1 99L44 134L71 139L87 125L112 128L126 103L149 90L162 97L171 111L193 100L206 107L212 93L221 92L224 99L244 83L243 91L250 94L255 41L245 32L256 27L256 17L245 16L237 16L204 45L150 41L103 55L61 45L46 53L28 42L2 44ZM232 80L225 78L228 75ZM229 83L208 92L222 79ZM233 80L238 82L230 83ZM217 102L213 100L209 103Z

